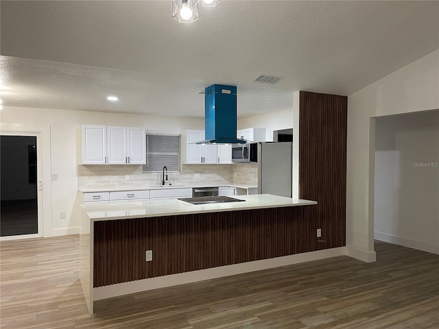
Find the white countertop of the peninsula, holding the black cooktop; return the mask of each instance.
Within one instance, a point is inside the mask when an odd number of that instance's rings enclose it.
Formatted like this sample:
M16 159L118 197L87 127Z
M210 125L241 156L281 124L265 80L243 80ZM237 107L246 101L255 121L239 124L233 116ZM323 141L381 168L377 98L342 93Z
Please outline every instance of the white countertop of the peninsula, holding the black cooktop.
M107 221L114 219L189 215L204 212L281 208L317 204L315 201L278 197L270 194L238 195L235 196L235 198L246 200L246 202L189 204L188 202L178 199L167 199L139 202L94 202L82 204L82 208L92 221Z

